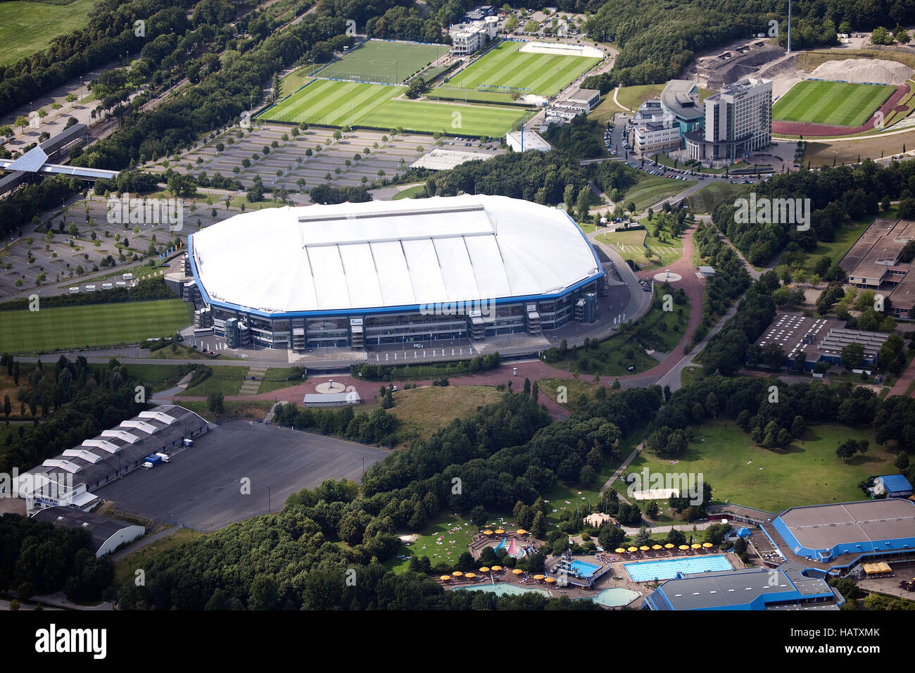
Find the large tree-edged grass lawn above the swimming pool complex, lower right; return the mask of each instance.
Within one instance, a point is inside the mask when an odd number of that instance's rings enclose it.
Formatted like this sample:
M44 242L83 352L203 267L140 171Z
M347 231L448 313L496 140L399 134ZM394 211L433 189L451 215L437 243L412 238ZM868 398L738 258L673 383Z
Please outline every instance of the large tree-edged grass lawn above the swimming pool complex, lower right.
M732 421L706 423L694 430L695 440L675 465L646 452L632 461L631 471L647 467L649 472L699 472L712 485L715 502L728 500L770 512L861 500L858 483L869 475L896 472L896 454L877 446L873 429L813 426L803 442L796 440L784 450L754 446L748 433ZM835 449L852 435L869 440L870 450L845 463L835 457Z

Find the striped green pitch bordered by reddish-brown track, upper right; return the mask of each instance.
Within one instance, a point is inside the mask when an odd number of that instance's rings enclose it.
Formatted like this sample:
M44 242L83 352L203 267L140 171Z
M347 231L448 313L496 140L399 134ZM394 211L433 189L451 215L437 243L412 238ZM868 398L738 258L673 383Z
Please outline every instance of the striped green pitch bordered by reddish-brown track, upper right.
M772 105L772 119L860 126L894 91L887 84L803 80Z

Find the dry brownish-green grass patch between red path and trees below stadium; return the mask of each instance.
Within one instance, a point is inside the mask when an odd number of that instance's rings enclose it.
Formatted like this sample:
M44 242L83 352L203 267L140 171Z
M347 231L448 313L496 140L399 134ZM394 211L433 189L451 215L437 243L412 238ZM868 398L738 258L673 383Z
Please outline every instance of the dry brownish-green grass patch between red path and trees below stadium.
M502 395L490 385L423 386L395 392L395 406L388 413L401 422L397 431L400 443L409 444L414 439L428 440L455 418L468 418L478 407L498 402Z

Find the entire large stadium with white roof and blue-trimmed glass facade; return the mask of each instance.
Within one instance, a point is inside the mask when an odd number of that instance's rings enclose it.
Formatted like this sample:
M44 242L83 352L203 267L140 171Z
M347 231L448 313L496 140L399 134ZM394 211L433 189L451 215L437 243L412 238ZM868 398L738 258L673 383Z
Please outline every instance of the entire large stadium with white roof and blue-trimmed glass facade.
M561 210L502 196L264 209L188 240L231 348L354 348L593 322L604 270Z

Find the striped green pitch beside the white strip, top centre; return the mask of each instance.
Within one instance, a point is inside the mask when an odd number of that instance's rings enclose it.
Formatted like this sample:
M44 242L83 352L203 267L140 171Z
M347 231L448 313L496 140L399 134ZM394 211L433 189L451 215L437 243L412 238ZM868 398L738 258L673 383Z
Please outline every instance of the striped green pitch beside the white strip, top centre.
M552 96L598 59L519 51L523 42L502 42L447 81L450 88ZM507 87L500 89L499 87Z

